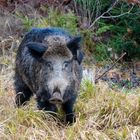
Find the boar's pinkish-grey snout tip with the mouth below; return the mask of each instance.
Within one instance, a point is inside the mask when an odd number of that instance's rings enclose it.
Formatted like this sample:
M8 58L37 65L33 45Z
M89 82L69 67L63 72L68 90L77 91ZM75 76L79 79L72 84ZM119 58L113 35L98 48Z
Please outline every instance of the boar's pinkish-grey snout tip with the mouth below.
M62 104L63 99L61 97L61 94L59 92L53 93L52 97L49 99L49 102L52 104Z

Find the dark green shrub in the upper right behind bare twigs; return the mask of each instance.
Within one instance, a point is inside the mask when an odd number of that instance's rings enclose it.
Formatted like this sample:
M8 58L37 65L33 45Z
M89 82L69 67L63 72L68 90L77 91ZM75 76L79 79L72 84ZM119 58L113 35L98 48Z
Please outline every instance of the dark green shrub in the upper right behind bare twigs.
M127 12L130 9L130 5L123 3L117 5L111 14L119 15ZM124 60L130 61L133 59L140 59L140 9L134 6L131 13L125 14L115 19L101 19L97 22L98 29L95 34L102 36L106 40L102 40L102 44L106 48L112 48L113 52L120 56L123 52L126 52ZM106 36L108 32L109 36ZM99 42L100 44L100 42ZM98 44L97 44L98 46ZM106 52L101 48L96 47L96 51L101 55L105 56ZM105 58L105 57L103 57ZM107 58L107 57L106 57Z

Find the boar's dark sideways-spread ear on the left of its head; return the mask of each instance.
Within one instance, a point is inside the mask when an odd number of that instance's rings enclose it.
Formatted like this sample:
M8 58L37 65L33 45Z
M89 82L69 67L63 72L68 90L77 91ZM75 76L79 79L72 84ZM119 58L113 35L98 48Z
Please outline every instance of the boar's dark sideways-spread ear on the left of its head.
M26 44L26 46L29 48L31 55L35 58L40 58L47 50L47 46L37 42L30 42Z

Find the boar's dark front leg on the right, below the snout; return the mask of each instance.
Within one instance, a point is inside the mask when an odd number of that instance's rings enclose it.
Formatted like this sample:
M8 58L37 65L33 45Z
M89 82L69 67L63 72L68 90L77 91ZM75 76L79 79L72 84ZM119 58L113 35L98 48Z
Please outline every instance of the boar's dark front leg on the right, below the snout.
M74 102L75 98L72 98L62 105L62 108L66 113L66 123L69 124L72 124L76 121L76 117L73 111Z

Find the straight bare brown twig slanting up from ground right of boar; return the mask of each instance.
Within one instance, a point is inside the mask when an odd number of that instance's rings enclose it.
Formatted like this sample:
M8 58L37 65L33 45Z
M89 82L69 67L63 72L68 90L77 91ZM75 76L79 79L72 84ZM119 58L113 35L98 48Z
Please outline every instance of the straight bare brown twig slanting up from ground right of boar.
M118 61L120 61L125 55L126 55L126 52L123 53L123 54L114 62L114 64L113 64L110 68L108 68L102 75L100 75L98 78L96 78L96 79L95 79L95 83L97 83L97 81L98 81L100 78L102 78L107 72L109 72L109 71L116 65L116 63L117 63Z

